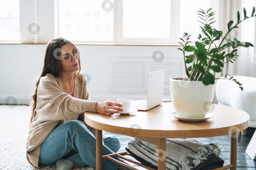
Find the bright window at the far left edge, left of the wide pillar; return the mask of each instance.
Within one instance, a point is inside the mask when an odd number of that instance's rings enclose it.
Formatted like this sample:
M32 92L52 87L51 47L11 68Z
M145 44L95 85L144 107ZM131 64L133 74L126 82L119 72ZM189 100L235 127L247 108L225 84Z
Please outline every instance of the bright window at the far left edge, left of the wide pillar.
M0 41L18 42L20 40L19 0L0 2Z

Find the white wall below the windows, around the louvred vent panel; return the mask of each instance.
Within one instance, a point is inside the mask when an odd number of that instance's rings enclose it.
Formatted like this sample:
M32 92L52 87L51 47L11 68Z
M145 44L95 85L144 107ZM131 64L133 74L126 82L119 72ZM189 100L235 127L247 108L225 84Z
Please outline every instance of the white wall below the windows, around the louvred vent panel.
M77 45L77 47L81 51L81 72L91 78L88 84L90 99L98 101L146 98L146 92L108 92L109 55L147 55L152 59L153 52L159 50L166 56L182 57L182 52L175 46ZM17 99L17 104L28 104L30 93L35 86L32 80L43 68L45 48L44 44L0 44L0 104L5 104L8 96ZM169 97L169 91L165 91L164 98ZM12 103L13 100L10 100L9 104Z

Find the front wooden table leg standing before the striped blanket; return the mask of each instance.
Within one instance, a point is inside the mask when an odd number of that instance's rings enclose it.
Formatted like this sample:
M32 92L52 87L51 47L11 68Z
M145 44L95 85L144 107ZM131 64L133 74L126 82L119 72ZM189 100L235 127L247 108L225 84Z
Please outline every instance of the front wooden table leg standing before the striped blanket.
M158 170L166 169L166 139L158 138Z

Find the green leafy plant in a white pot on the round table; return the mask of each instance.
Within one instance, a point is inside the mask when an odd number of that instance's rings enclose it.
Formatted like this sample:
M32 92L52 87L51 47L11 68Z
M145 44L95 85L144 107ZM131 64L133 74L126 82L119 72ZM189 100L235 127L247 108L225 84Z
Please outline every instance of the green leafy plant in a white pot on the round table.
M235 28L238 28L238 24L242 21L256 16L255 7L250 17L246 14L245 8L243 9L244 19L240 19L240 13L237 10L237 23L230 20L228 22L228 31L223 36L222 31L217 31L211 27L214 23L214 12L211 12L211 8L206 12L200 9L198 10L199 22L202 24L200 28L203 34L199 34L195 47L188 45L192 43L189 41L190 35L184 33L179 42L183 48L178 48L182 51L185 62L185 72L187 77L170 78L170 93L173 100L174 108L180 117L185 118L204 118L209 111L209 103L212 102L215 90L215 72L222 73L222 67L225 63L233 63L238 57L237 47L253 47L253 44L247 42L241 42L234 39L229 39L227 36L229 32ZM220 43L216 45L216 41L220 40ZM225 54L224 49L232 47L233 49ZM186 55L186 52L192 52L193 54ZM190 66L187 66L190 65ZM227 75L224 77L227 78ZM237 82L231 76L229 80L236 82L241 87L241 83Z

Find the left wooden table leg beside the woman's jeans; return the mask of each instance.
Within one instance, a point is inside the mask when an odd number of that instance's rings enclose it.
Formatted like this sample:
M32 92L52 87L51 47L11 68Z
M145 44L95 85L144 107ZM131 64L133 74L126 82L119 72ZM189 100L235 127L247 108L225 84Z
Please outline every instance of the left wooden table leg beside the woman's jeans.
M102 130L96 129L96 170L102 170Z

